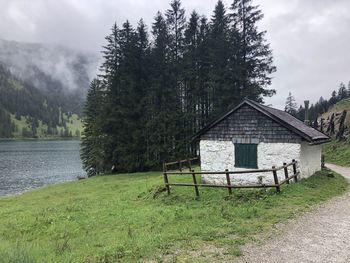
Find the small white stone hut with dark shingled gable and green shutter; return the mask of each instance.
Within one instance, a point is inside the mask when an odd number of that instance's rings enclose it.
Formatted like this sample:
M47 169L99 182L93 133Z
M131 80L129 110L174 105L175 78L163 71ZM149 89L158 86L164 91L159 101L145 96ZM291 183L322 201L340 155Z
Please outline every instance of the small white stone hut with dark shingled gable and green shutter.
M270 169L298 161L300 177L321 169L321 145L329 141L322 132L292 115L251 100L210 123L195 135L200 140L202 171ZM278 176L283 178L283 171ZM203 175L207 183L225 183L220 175ZM271 183L268 173L231 175L238 184Z

